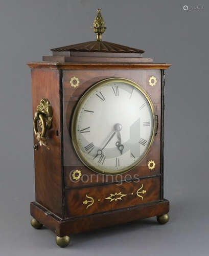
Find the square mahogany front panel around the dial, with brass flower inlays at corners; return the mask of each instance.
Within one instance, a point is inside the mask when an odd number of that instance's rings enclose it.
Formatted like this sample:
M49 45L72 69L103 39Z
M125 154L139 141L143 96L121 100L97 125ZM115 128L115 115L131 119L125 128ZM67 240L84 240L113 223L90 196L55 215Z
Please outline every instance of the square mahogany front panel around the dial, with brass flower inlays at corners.
M80 81L78 87L71 86L71 78L77 77ZM156 84L150 86L150 77L156 77ZM130 172L117 177L108 177L103 175L96 175L82 164L71 141L71 118L74 108L80 96L92 86L92 84L110 77L122 77L130 79L139 84L150 96L155 109L155 114L158 115L158 133L154 137L153 144L148 155L144 160ZM63 92L64 92L64 108L63 108L63 133L64 133L64 172L65 172L65 186L78 187L86 186L87 184L108 183L123 180L125 178L155 176L160 173L160 118L161 118L161 73L160 70L64 70L63 71ZM155 162L155 168L149 169L148 162L152 160ZM73 180L73 171L81 170L82 176L79 180ZM95 174L92 176L92 174ZM127 175L131 176L128 177ZM90 177L90 178L89 178ZM117 180L116 180L117 179Z

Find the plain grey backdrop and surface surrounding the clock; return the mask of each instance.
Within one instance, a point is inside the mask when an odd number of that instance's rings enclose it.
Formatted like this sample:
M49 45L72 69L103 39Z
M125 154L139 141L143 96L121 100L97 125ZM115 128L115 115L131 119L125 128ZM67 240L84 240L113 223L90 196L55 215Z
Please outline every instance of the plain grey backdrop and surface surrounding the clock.
M183 11L183 5L204 6ZM208 1L0 1L0 255L208 255ZM60 249L55 234L30 227L34 201L28 61L49 49L103 39L171 62L166 81L165 198L170 222L147 219L77 234Z

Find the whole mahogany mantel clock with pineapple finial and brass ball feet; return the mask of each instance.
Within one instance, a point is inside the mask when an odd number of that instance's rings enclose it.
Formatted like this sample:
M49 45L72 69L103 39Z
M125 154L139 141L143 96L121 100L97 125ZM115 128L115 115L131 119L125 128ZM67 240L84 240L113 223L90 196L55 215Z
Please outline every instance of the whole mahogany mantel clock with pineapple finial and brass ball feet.
M164 86L171 65L102 41L52 49L32 74L35 202L31 224L69 235L157 217L164 199Z

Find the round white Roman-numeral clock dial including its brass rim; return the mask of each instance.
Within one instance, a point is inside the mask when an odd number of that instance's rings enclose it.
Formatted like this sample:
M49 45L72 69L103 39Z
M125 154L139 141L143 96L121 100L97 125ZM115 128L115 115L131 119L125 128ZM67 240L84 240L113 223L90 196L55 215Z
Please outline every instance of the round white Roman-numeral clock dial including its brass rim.
M154 136L153 109L146 92L130 80L110 78L92 86L72 122L73 144L82 162L105 174L137 165Z

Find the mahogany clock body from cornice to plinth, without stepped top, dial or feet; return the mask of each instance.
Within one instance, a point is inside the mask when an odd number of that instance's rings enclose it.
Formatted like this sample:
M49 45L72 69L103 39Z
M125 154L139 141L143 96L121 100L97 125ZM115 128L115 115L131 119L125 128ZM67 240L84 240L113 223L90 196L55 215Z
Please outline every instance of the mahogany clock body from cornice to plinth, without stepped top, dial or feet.
M50 150L37 146L34 136L36 201L31 203L31 215L63 237L167 214L169 202L164 199L163 191L164 69L170 65L98 63L92 68L91 63L31 62L29 66L33 113L41 98L49 99L53 110L53 125L47 135ZM157 81L154 86L149 84L152 76ZM79 79L78 87L71 86L72 77ZM91 181L79 179L73 182L70 177L72 170L80 170L86 177L93 173L82 164L72 145L70 124L73 111L81 95L92 84L110 77L130 79L148 93L158 120L156 135L147 156L128 172L128 182L124 180L125 174L117 178L109 176L105 182L102 175L97 174ZM150 160L155 163L151 169L148 167ZM134 174L140 177L140 181L134 180ZM122 181L120 186L117 179ZM111 198L113 194L119 200Z

